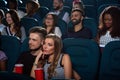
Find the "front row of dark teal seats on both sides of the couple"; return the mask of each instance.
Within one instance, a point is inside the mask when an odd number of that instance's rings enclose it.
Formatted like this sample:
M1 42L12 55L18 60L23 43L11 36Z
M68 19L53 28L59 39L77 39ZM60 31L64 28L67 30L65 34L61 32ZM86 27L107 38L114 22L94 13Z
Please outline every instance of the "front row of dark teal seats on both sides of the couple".
M8 71L13 70L19 55L29 50L28 38L21 44L12 36L1 36L1 48L8 56ZM63 52L71 57L73 68L83 80L120 80L120 41L112 41L103 49L94 40L66 38Z

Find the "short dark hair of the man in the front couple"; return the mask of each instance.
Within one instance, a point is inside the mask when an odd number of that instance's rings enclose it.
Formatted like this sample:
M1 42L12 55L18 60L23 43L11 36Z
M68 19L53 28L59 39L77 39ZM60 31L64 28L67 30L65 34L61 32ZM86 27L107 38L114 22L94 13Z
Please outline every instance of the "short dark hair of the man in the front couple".
M45 28L42 28L41 26L35 26L29 30L29 35L30 33L38 33L39 36L44 39L45 36L47 35L47 31Z

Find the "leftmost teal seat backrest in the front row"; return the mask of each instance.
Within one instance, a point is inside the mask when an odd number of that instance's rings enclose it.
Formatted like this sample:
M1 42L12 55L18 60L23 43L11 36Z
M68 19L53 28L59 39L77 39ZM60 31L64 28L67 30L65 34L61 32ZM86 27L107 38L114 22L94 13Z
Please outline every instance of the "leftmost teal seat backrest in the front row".
M20 55L20 41L14 36L2 35L1 48L8 57L7 70L12 71Z

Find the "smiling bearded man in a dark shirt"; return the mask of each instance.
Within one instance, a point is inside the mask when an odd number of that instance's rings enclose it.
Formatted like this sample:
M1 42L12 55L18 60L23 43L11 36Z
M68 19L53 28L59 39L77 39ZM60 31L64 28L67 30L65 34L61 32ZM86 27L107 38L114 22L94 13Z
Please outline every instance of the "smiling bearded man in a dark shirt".
M83 25L83 12L80 9L73 9L71 12L72 27L68 28L68 38L92 38L90 29Z

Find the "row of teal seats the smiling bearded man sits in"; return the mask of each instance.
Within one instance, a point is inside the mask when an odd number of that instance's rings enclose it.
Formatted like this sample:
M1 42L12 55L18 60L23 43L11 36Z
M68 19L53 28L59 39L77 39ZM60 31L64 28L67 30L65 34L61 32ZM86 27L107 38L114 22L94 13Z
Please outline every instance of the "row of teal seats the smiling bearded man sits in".
M29 29L31 27L38 26L38 25L42 26L42 22L43 21L41 20L41 23L39 24L39 22L37 20L32 19L32 18L22 18L21 19L21 24L22 24L22 26L25 27L27 36L28 36ZM88 27L92 31L93 38L95 38L95 36L97 34L96 21L93 18L85 18L83 20L83 25L85 27ZM64 35L67 34L68 28L71 27L71 26L72 26L71 22L67 25L67 23L65 21L63 21L62 19L58 20L58 27L60 28L63 37L64 37Z

